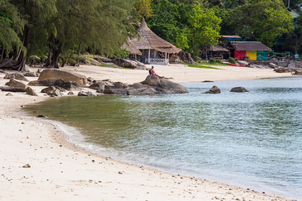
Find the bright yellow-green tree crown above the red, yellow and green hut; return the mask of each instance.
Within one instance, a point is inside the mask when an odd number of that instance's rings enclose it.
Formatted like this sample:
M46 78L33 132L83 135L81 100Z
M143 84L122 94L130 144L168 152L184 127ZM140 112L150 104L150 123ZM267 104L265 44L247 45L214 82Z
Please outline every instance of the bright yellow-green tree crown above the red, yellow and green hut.
M290 32L293 19L281 0L250 0L232 11L232 24L247 38L273 46L275 38Z

